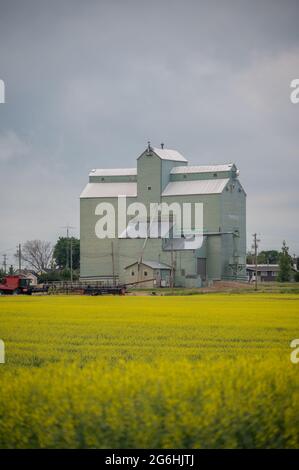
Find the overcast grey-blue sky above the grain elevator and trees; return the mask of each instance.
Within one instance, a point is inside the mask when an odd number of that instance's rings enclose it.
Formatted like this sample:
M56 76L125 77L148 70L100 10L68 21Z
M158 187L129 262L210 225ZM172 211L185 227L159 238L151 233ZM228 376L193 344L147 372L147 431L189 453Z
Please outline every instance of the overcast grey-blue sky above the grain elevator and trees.
M298 0L0 0L0 255L79 235L89 170L148 139L235 162L248 246L299 254L298 21Z

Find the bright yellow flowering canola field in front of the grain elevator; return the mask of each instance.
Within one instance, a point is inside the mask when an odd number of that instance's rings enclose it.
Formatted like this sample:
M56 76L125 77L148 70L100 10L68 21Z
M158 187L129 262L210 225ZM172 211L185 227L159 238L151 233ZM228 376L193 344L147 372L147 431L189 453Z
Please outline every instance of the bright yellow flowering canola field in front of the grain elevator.
M299 447L299 295L0 298L0 448Z

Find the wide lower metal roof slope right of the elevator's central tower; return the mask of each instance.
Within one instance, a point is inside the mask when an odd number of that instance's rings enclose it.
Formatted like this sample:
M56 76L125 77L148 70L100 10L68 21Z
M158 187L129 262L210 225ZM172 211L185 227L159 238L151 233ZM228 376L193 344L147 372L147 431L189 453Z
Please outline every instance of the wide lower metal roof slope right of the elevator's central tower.
M184 196L190 194L219 194L222 193L229 178L171 181L164 189L162 196Z

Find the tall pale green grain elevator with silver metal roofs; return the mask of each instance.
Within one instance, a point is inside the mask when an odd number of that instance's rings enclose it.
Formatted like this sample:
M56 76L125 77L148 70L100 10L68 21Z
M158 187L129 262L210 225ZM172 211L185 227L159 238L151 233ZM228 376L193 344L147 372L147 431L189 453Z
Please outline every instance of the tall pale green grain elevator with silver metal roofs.
M189 166L178 151L150 145L137 158L136 168L92 170L80 196L80 278L125 283L136 279L132 266L150 262L166 266L164 273L147 265L147 275L156 277L156 285L163 277L169 282L169 272L175 286L246 280L246 193L238 176L233 163ZM192 249L183 234L175 238L171 231L159 238L98 238L96 209L99 203L110 202L117 213L119 195L125 195L128 204L142 202L146 207L202 203L202 245Z

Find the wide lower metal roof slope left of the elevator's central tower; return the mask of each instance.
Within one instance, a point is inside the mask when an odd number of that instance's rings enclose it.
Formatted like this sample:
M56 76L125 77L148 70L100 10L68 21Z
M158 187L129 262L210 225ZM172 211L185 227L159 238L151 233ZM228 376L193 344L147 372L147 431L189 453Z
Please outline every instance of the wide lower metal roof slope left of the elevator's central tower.
M92 197L137 196L137 183L88 183L80 199Z

